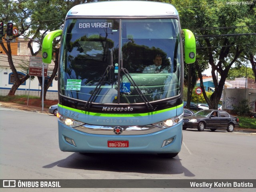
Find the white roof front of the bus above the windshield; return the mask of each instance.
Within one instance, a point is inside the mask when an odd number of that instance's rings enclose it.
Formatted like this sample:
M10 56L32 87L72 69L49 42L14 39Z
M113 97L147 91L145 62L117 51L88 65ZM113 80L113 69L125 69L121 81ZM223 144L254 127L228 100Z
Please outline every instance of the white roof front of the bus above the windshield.
M67 13L67 17L170 17L174 15L178 16L178 12L173 5L150 1L103 1L84 3L74 6Z

